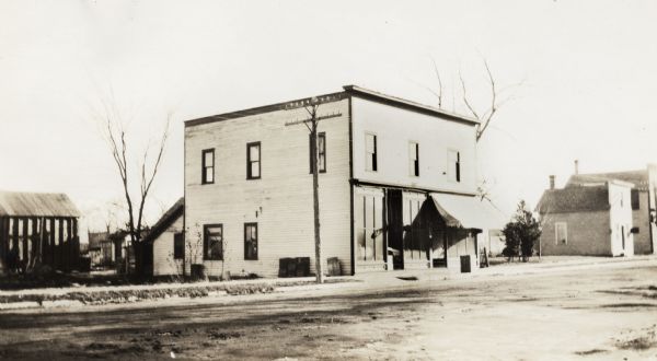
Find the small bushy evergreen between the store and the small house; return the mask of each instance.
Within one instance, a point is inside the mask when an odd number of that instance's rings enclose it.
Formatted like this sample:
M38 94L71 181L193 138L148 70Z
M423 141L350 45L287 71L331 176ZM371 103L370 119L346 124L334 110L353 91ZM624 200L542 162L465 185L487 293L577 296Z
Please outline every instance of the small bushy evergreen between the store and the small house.
M533 247L541 236L541 225L527 209L527 203L521 200L518 203L516 214L502 231L506 238L506 247L503 254L512 259L515 256L521 256L522 261L527 261L533 255Z

